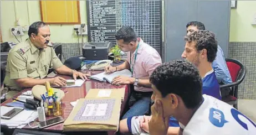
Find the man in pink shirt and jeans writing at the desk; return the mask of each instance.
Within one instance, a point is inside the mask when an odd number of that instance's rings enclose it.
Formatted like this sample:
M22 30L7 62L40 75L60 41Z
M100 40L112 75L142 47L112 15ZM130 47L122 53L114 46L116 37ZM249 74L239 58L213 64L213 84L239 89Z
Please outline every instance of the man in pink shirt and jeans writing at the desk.
M115 72L130 69L132 77L117 76L113 85L132 84L134 91L129 99L130 110L125 113L122 119L144 115L149 111L152 88L149 76L162 64L161 56L150 45L137 38L136 33L130 27L120 28L116 35L116 41L120 49L127 53L127 60L119 66L107 66L105 72Z

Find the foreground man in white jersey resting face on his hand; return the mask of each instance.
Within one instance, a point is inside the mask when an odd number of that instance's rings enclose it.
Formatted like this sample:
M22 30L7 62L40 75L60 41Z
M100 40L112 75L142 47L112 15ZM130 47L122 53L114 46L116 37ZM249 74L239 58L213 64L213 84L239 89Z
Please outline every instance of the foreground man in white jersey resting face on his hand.
M175 60L162 64L150 76L155 101L152 118L128 118L120 132L132 134L256 134L256 125L248 117L227 103L212 96L202 95L201 75L193 64ZM173 133L168 127L169 117L175 117L180 128ZM140 122L141 121L141 122ZM126 124L126 123L120 123ZM148 133L142 129L149 125Z

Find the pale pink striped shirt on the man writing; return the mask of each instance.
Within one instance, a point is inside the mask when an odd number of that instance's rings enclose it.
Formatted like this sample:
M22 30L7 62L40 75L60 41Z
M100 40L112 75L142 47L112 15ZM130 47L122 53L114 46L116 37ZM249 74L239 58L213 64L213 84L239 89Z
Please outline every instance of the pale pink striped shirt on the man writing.
M161 56L158 54L156 49L152 48L152 46L144 43L144 41L141 38L138 38L140 45L137 50L137 58L134 63L134 57L135 52L131 54L131 52L127 53L127 61L130 64L134 64L134 72L132 74L132 77L136 77L138 79L149 79L149 76L152 74L152 72L156 69L157 66L162 64ZM130 54L131 54L131 61L130 61ZM146 87L134 87L135 91L142 91L142 92L148 92L152 91L152 89L146 88Z

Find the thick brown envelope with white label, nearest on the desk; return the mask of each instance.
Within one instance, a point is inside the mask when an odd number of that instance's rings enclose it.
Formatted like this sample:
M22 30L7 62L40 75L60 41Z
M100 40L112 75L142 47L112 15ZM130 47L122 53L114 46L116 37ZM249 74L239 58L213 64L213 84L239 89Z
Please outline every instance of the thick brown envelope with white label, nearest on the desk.
M81 98L63 124L66 131L117 131L120 98Z

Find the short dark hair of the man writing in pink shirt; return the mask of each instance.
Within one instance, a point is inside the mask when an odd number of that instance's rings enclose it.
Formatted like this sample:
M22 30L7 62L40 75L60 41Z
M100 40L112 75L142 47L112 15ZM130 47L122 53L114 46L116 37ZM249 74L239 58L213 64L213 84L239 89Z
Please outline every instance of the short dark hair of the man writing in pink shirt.
M134 29L132 29L129 26L124 26L121 27L117 32L116 32L116 40L124 40L124 43L130 43L131 41L137 41L137 35L134 32Z

